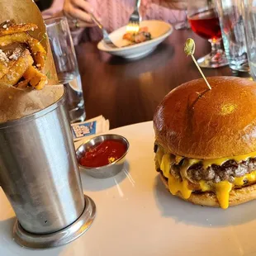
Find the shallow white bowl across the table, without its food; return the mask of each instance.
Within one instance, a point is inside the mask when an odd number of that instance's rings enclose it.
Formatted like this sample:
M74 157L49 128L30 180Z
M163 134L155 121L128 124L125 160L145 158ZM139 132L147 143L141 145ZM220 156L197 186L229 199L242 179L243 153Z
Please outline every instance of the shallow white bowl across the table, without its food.
M107 46L103 40L98 43L97 48L111 55L121 56L126 59L139 59L145 55L149 55L157 45L173 32L173 26L164 21L141 21L140 26L149 27L149 32L153 38L152 40L123 47L129 43L127 40L122 39L122 36L126 33L126 26L123 26L110 34L112 42L121 48L112 49Z

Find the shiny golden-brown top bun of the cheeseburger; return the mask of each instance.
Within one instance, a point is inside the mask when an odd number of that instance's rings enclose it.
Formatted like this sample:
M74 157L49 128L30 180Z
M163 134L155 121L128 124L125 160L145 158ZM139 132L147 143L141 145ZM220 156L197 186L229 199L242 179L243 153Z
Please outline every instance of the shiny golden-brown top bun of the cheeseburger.
M155 139L172 154L218 159L256 151L256 83L201 78L164 97L154 114Z

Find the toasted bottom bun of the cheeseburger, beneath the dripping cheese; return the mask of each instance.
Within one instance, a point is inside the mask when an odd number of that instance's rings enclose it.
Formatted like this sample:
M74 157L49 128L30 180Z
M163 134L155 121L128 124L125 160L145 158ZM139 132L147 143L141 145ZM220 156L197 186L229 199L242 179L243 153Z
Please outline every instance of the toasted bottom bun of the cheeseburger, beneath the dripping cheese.
M160 173L160 178L164 183L164 186L168 189L168 181L164 178L163 173ZM184 201L190 201L195 205L220 207L219 201L217 200L214 192L192 192L188 199L184 199L180 192L178 192L176 196L182 198ZM246 187L232 189L230 192L230 206L237 206L241 203L254 199L256 199L256 183Z

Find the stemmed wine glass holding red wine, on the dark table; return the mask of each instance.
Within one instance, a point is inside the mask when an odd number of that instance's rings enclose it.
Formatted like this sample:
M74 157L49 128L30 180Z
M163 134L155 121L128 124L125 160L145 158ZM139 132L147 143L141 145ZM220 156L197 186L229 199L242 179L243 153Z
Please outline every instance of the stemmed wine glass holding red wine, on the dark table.
M192 31L211 43L211 53L197 59L201 68L219 68L228 64L221 44L219 17L214 0L188 1L187 18Z

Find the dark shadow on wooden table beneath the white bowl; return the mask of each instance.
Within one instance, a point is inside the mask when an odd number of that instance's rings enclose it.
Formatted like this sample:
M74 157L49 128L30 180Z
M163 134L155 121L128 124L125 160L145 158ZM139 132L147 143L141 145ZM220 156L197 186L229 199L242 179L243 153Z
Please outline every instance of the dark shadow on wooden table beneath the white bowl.
M166 62L173 57L174 48L172 45L160 44L156 50L142 59L123 59L118 56L111 56L107 64L118 66L126 65L126 74L137 76L139 73L149 72L166 65Z

